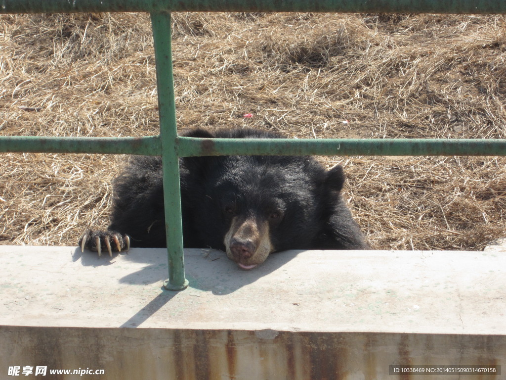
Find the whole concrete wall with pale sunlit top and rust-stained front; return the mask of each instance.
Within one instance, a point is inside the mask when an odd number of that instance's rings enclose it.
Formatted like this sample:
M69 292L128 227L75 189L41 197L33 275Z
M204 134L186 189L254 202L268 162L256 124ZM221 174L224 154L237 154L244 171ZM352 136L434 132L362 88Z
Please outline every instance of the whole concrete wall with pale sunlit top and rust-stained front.
M245 272L193 249L181 292L163 249L0 262L0 379L506 378L502 252L289 251Z

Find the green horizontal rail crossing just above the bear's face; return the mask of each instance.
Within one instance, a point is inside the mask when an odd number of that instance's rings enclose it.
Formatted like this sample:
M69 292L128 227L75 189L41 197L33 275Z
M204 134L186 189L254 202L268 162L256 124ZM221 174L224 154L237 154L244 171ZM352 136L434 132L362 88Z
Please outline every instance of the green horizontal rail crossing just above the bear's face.
M505 139L227 139L177 137L178 157L195 156L506 156ZM160 136L0 136L3 153L101 153L160 156Z

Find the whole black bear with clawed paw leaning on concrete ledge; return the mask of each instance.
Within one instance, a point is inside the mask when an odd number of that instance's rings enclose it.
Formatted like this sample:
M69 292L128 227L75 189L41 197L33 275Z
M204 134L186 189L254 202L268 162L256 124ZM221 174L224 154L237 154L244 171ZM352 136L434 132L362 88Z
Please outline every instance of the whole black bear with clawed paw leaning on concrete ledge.
M255 129L191 130L203 138L281 138ZM313 157L217 156L180 159L183 242L216 248L242 269L288 249L367 249L340 192L342 166ZM114 180L107 231L87 231L79 244L99 252L166 247L161 159L133 157Z

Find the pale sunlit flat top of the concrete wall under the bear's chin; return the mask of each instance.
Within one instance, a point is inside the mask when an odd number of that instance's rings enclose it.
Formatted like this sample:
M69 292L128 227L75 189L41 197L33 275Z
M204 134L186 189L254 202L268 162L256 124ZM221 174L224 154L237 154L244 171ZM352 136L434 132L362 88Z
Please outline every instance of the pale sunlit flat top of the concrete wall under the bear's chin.
M0 324L506 333L498 253L290 251L245 272L193 249L182 292L162 290L166 260L163 249L0 247Z

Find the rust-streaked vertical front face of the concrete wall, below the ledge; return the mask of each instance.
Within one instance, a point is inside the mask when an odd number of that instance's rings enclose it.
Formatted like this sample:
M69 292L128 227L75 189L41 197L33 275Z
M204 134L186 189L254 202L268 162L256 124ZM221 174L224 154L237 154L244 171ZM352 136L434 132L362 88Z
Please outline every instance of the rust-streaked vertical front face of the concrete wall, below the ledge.
M102 380L397 380L420 376L389 375L390 365L498 366L506 357L504 335L3 326L0 341L3 371L13 365L103 369Z

